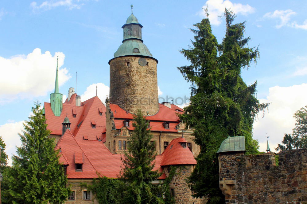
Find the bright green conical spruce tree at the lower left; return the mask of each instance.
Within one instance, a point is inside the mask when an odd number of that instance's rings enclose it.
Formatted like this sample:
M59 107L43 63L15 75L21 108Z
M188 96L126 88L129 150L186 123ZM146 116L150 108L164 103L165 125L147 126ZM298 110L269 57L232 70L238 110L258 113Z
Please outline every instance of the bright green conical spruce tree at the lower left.
M13 156L9 172L10 203L61 203L68 197L67 177L59 163L54 139L45 124L40 104L32 107L33 115L19 134L21 147Z

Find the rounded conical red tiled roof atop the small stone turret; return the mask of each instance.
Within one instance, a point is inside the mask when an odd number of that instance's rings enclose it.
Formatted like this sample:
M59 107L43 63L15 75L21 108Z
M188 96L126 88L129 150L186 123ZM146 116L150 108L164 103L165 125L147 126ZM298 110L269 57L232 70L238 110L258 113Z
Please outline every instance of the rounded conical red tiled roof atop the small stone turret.
M184 164L196 164L196 160L188 147L183 148L181 142L186 143L185 138L176 138L169 143L169 146L164 150L162 155L164 159L161 162L161 166L165 165L184 165Z

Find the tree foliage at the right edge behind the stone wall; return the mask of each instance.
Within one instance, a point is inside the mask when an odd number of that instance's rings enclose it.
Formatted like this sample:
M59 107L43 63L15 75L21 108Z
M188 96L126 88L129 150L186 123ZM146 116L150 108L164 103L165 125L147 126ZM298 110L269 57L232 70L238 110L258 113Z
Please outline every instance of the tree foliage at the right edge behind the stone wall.
M293 116L296 120L291 134L285 134L282 144L277 144L275 150L292 150L307 148L307 106L297 110Z

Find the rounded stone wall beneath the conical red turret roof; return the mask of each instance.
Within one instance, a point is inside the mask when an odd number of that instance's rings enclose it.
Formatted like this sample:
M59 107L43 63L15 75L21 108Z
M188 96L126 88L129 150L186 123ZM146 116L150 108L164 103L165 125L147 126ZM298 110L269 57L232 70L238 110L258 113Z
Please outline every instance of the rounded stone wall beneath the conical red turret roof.
M194 203L206 203L206 198L194 198L191 194L191 190L188 187L186 179L191 175L193 171L193 165L178 165L176 173L173 176L171 183L169 184L170 189L173 189L176 203L180 204L194 204ZM169 176L169 166L164 167L166 176Z

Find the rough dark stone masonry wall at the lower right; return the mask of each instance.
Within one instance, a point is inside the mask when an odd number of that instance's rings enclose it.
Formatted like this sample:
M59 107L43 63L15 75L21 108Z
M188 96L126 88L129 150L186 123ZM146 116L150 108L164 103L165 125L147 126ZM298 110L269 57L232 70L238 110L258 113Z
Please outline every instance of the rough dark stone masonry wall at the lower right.
M307 203L307 149L278 155L279 165L274 153L220 154L225 203Z

